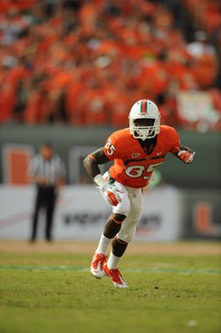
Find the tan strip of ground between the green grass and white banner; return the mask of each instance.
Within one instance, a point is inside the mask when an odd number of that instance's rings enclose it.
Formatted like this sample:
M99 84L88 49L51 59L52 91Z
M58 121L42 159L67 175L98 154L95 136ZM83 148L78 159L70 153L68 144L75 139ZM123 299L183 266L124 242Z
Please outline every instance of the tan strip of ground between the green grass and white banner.
M37 241L31 244L24 240L0 239L0 254L80 254L93 255L97 241ZM174 255L174 256L221 256L218 241L181 240L172 243L136 242L129 243L127 255Z

